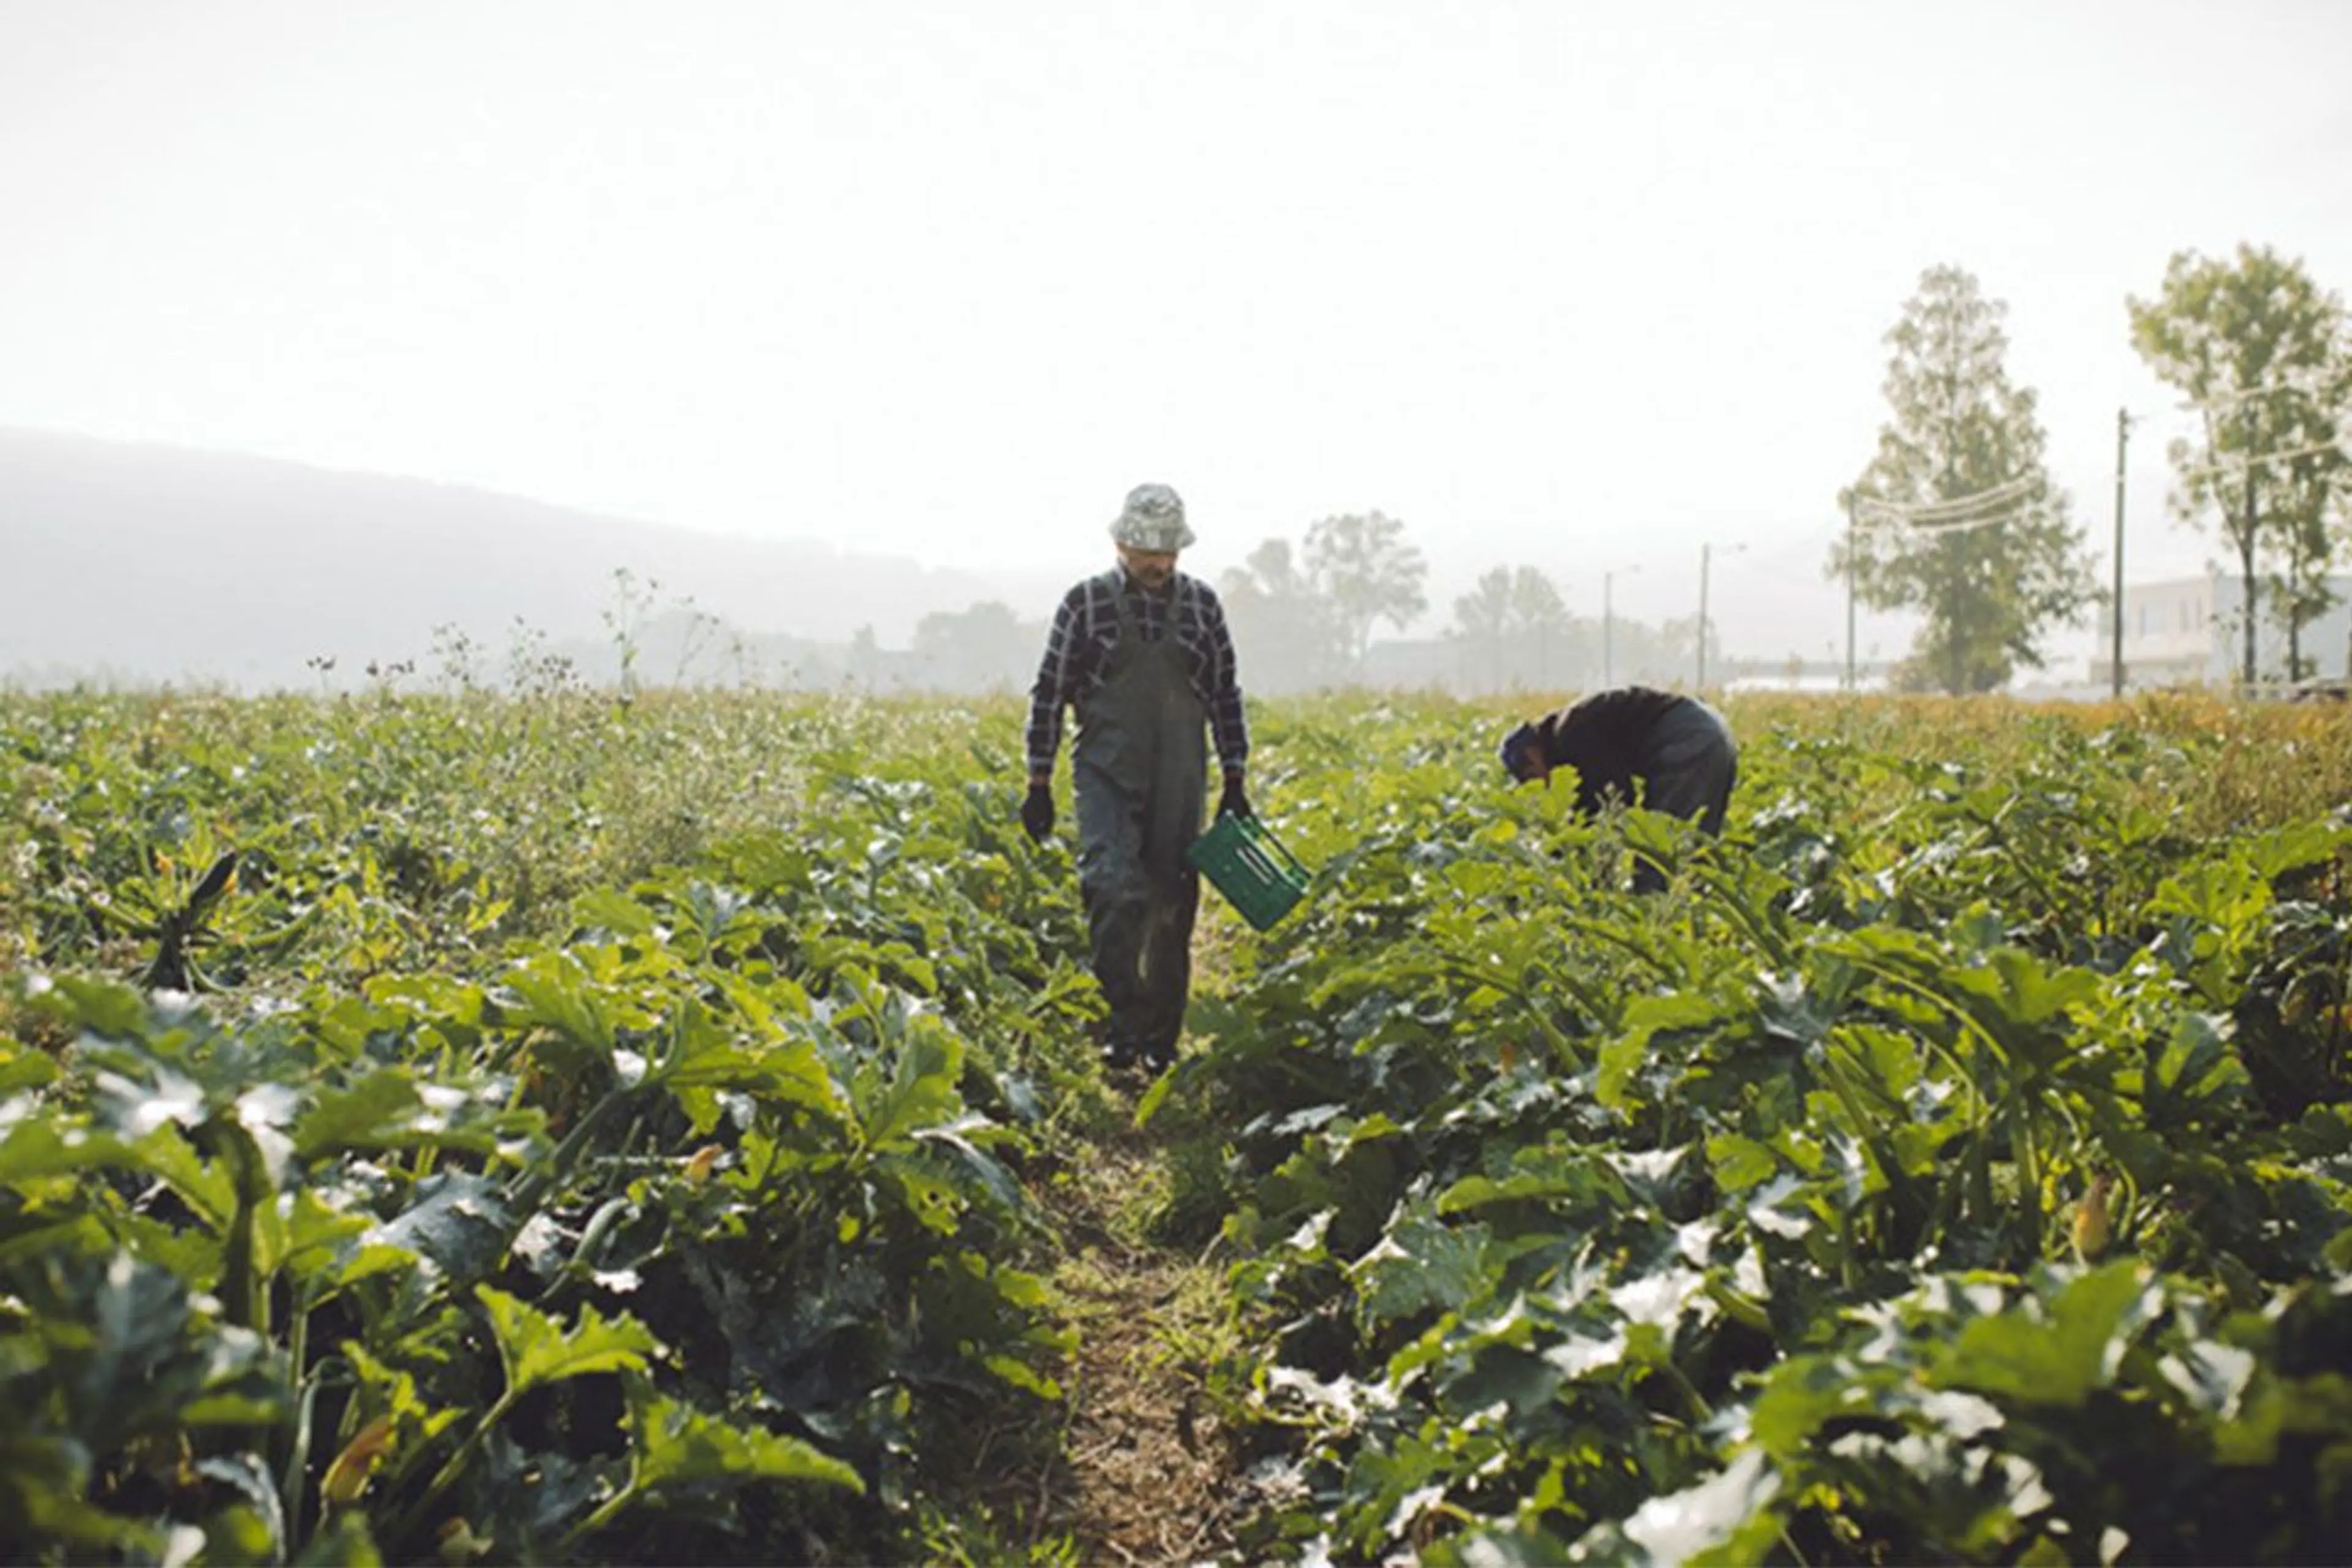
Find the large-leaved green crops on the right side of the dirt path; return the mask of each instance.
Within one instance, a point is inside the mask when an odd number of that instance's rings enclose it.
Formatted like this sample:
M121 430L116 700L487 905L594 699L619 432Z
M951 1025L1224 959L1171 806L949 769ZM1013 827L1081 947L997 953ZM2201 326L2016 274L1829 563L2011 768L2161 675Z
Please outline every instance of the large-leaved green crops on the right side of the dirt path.
M2340 1549L2352 830L2190 837L2194 736L1940 738L1752 733L1719 851L1402 717L1289 738L1324 889L1190 1065L1261 1549Z

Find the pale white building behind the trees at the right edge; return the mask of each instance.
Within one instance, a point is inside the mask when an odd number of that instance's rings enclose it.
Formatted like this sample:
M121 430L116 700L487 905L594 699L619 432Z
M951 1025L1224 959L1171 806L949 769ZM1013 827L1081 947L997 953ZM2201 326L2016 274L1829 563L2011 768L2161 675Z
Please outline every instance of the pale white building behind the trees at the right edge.
M2161 583L2124 583L2124 684L2126 686L2227 686L2246 661L2246 630L2239 616L2244 583L2234 571L2169 578ZM2256 592L2260 595L2260 581ZM2310 675L2352 675L2352 576L2331 576L2336 604L2303 625L2303 663ZM2260 623L2253 649L2263 679L2288 679L2286 628L2270 618L2267 599L2258 599ZM2105 607L2098 616L2098 654L2091 658L2091 682L2110 684L2110 649L2114 621Z

